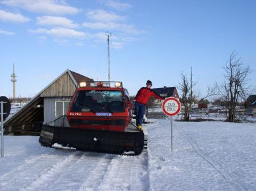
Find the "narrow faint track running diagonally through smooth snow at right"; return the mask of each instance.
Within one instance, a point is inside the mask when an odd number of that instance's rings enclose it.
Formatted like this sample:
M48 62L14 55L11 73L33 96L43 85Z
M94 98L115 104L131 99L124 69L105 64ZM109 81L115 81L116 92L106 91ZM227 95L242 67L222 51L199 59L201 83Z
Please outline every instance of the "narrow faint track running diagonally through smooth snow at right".
M247 188L248 185L245 185L243 182L241 182L241 180L239 180L239 178L237 178L235 174L228 171L228 169L225 169L225 167L223 167L220 163L216 162L213 158L207 155L198 146L196 141L192 139L188 134L186 134L185 132L182 132L182 130L180 130L179 128L177 128L177 130L179 131L180 135L182 135L185 139L189 141L195 153L199 155L201 158L203 158L207 163L209 163L217 172L221 174L221 176L223 176L223 178L228 180L234 188L238 187L239 190L255 190L255 188L253 187Z

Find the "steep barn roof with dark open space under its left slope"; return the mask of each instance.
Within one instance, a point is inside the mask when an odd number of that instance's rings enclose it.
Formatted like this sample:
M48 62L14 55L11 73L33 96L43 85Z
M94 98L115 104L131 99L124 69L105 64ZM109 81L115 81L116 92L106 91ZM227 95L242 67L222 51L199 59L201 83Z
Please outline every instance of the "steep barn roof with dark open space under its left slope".
M53 80L48 86L46 86L42 91L40 91L37 95L35 95L29 102L27 102L23 107L20 108L19 111L15 112L12 116L7 118L4 121L4 125L10 125L11 123L27 123L29 120L33 121L41 119L42 116L44 116L44 109L38 109L37 105L44 104L44 98L40 96L44 91L49 88L54 82L59 80L63 75L68 73L70 78L72 79L72 82L74 82L74 86L76 88L78 87L78 83L81 81L93 81L93 79L90 79L88 77L85 77L84 75L81 75L76 72L72 72L70 70L65 70L65 72L61 73L59 77L57 77L55 80ZM37 109L36 109L37 108Z

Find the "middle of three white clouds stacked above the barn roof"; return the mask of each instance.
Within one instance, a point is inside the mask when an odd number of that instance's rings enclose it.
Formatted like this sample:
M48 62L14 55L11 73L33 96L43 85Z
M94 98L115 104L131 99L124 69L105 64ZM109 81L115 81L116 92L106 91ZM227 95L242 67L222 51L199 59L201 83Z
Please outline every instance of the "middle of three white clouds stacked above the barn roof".
M61 26L61 27L68 27L68 28L78 27L78 24L75 24L72 20L67 19L66 17L43 16L43 17L37 17L36 19L37 19L38 25Z

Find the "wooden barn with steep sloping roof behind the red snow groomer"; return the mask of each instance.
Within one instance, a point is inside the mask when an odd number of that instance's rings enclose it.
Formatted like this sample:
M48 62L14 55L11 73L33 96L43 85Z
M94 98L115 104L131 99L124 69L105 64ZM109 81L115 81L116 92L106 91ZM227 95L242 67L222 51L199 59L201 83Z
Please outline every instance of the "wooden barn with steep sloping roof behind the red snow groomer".
M93 81L70 70L61 73L19 111L4 121L4 134L36 134L43 123L66 114L69 102L81 81Z

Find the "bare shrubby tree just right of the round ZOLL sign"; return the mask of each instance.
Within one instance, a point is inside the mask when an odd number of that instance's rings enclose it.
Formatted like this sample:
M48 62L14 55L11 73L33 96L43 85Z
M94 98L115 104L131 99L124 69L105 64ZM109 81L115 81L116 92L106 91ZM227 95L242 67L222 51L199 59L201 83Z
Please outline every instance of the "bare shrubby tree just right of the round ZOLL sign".
M184 73L181 73L181 79L179 89L181 91L181 100L180 102L184 105L184 117L183 121L189 121L191 109L193 105L198 103L198 98L200 96L200 90L196 90L195 86L197 82L193 79L193 69L191 67L191 73L190 78L188 80L188 77L184 75ZM208 86L207 88L207 94L202 98L203 100L208 98L209 96L216 94L217 84L214 84L214 86Z

